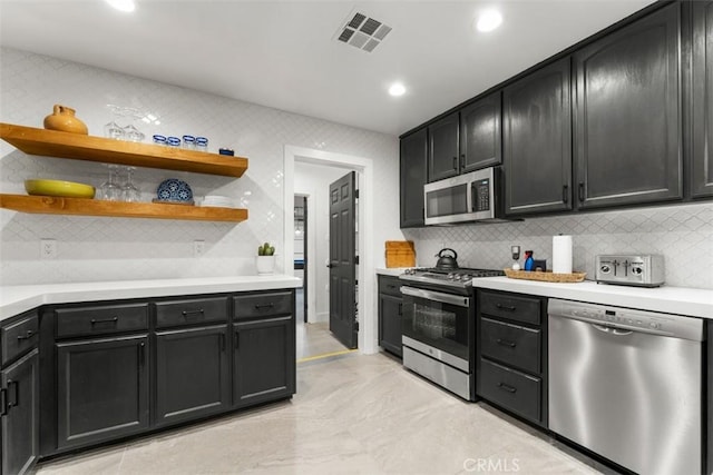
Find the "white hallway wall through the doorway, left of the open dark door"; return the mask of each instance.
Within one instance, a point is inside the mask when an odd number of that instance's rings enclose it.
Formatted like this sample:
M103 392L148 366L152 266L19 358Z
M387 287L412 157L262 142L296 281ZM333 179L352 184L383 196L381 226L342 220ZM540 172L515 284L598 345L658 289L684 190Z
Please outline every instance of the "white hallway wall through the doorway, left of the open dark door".
M294 167L294 191L307 195L307 256L311 259L307 288L312 298L307 301L307 319L311 323L329 320L330 273L326 265L330 258L330 184L348 171L344 168L303 162L295 162Z

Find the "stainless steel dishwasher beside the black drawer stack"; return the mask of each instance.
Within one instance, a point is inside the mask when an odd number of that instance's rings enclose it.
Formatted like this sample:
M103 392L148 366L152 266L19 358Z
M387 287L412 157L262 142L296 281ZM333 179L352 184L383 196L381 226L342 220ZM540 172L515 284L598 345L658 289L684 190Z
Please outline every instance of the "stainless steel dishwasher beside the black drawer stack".
M700 474L703 321L549 299L549 428L639 474Z

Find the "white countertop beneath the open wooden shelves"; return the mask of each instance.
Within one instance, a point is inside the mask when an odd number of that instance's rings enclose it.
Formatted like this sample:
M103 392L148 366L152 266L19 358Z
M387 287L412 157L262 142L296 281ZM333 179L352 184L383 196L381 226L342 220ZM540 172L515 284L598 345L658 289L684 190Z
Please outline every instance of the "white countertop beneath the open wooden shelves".
M0 320L47 304L169 297L300 287L292 276L202 277L0 287Z

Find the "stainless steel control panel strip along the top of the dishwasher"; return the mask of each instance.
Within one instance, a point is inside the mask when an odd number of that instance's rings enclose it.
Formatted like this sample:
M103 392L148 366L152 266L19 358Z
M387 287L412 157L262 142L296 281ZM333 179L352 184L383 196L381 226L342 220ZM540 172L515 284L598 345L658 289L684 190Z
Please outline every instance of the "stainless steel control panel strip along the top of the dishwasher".
M695 317L560 300L556 298L549 299L547 313L549 315L599 324L605 327L631 329L663 336L677 336L686 339L700 338L703 328L703 320Z

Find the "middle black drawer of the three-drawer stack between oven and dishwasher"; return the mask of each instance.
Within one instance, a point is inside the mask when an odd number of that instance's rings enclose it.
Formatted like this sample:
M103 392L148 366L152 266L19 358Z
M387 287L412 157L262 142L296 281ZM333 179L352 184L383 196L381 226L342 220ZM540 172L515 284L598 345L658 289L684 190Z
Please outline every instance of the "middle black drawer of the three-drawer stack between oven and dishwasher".
M484 356L540 373L540 330L481 318L480 352Z

